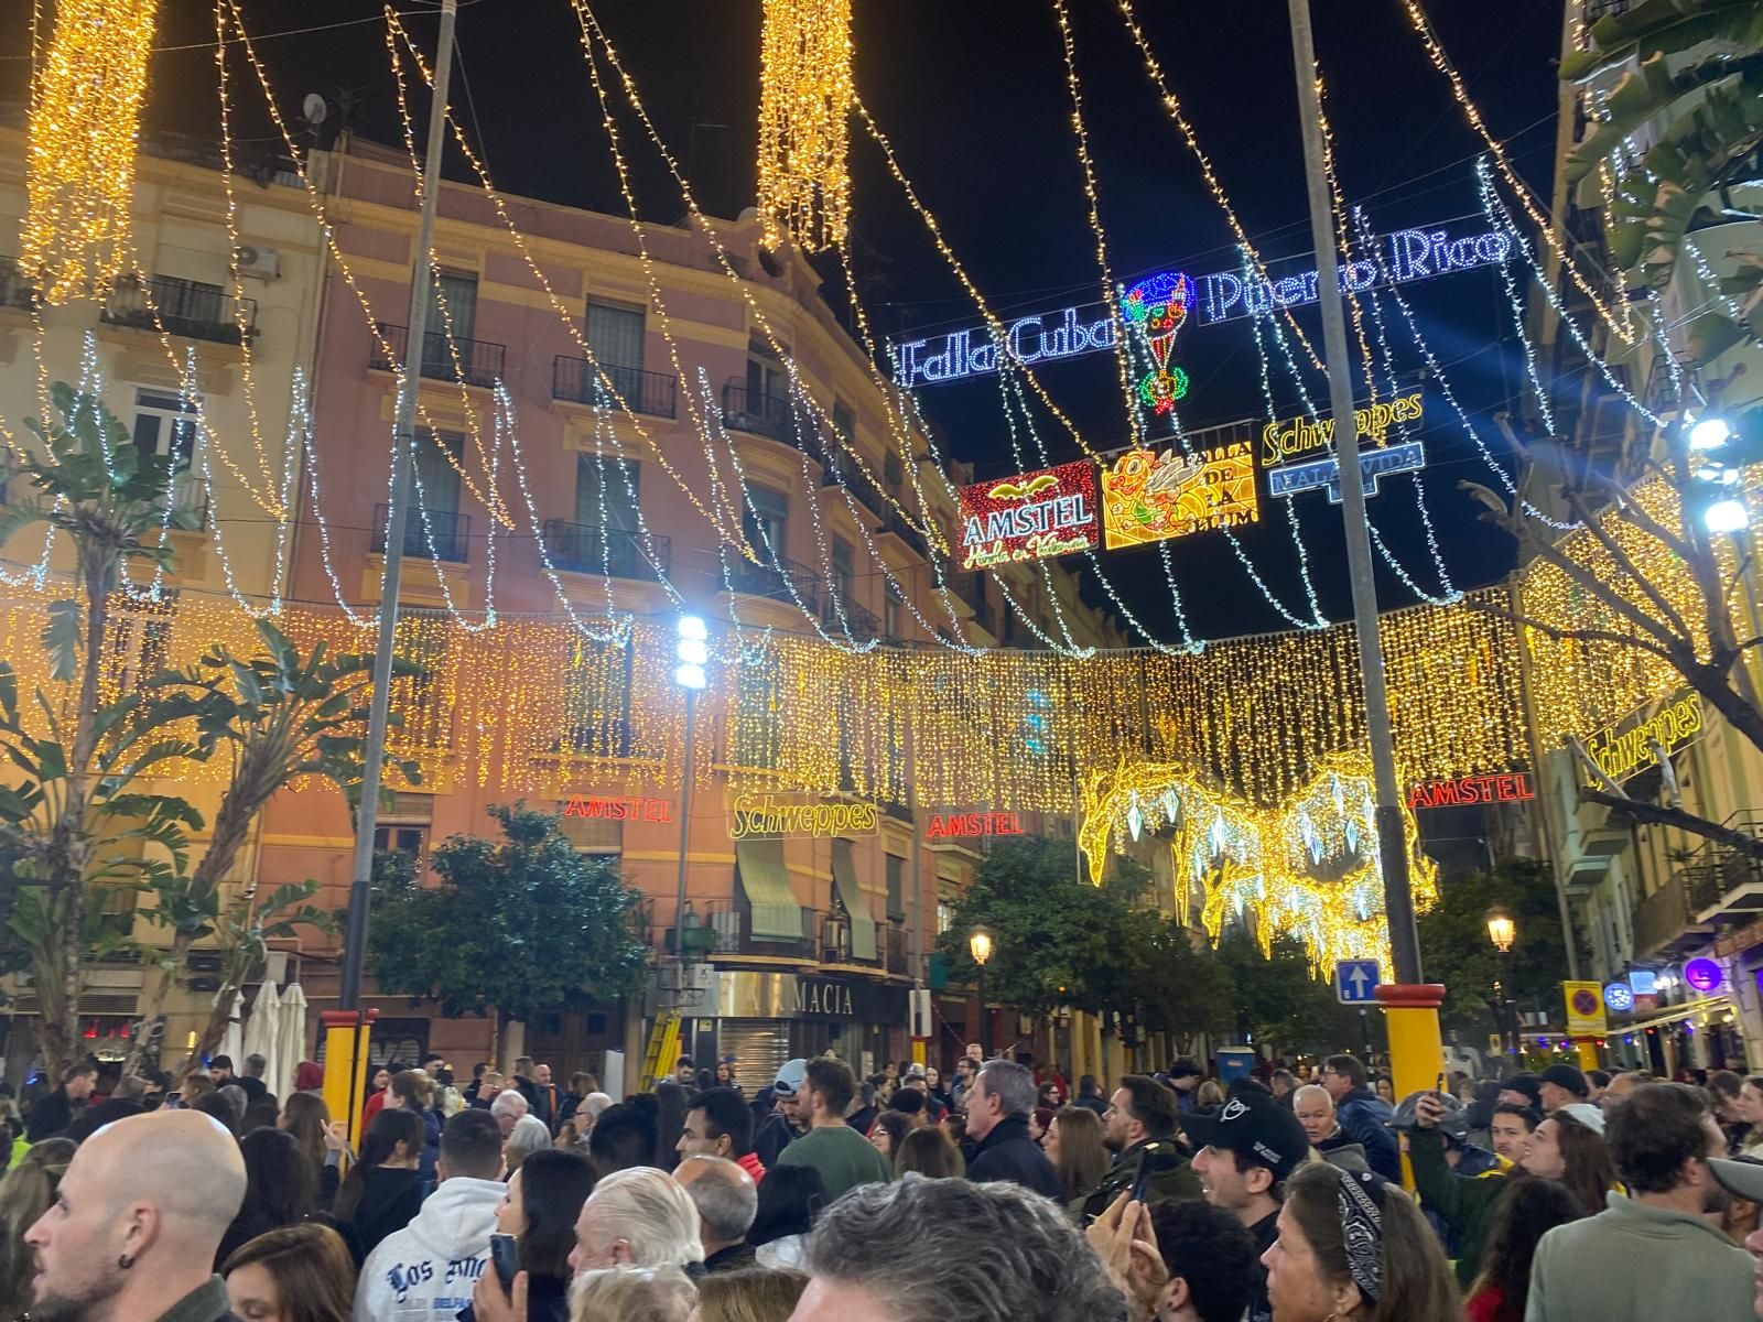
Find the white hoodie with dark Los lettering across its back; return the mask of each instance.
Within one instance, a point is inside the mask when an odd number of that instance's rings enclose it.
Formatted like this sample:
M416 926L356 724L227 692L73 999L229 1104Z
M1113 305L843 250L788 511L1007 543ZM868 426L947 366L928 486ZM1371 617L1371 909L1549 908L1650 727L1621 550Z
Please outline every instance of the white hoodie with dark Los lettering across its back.
M499 1179L453 1177L416 1218L367 1255L354 1289L354 1322L453 1322L490 1259Z

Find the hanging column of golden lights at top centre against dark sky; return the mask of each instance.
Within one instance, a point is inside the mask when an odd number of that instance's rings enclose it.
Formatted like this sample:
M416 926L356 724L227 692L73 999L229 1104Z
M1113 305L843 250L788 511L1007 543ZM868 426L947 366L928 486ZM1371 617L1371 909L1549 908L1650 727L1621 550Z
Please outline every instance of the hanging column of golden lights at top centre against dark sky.
M760 30L760 220L765 247L844 241L852 180L852 2L765 0Z

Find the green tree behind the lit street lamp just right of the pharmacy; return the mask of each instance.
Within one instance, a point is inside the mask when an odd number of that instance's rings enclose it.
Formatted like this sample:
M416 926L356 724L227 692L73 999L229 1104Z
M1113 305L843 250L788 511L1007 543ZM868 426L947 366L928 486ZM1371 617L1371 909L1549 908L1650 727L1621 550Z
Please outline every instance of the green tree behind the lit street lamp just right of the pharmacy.
M1132 1005L1139 987L1128 952L1139 945L1134 932L1144 922L1134 904L1148 883L1144 867L1116 858L1093 887L1079 876L1070 841L1001 839L975 871L936 948L952 978L975 982L968 936L975 927L991 931L986 992L1024 1012Z

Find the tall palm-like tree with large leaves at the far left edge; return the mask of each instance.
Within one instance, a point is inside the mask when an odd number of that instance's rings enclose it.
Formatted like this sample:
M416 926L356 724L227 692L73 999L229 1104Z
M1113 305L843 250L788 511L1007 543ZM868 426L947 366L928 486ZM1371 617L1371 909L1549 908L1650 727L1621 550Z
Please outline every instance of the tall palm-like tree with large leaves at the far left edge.
M182 873L201 816L183 798L139 790L175 760L212 746L173 737L175 714L139 691L100 702L115 598L130 562L167 568L167 527L196 527L167 508L173 460L145 455L93 395L65 382L55 414L32 418L41 455L18 462L32 494L0 511L0 545L48 524L74 548L72 596L51 601L42 647L55 687L19 705L18 673L0 661L0 753L19 779L0 786L0 846L12 857L0 908L30 952L39 1036L49 1073L74 1059L90 955L130 948L108 920L109 899Z

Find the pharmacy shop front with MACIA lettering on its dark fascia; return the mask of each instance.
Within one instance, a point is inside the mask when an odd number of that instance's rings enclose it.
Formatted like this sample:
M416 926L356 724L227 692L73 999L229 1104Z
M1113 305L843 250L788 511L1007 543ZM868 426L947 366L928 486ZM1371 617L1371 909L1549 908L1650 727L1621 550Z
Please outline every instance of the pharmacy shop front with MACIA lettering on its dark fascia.
M751 1095L797 1056L830 1051L859 1079L874 1073L899 1051L906 1014L906 987L897 984L719 969L716 1014L682 1024L682 1040L700 1066L733 1056L735 1079Z

